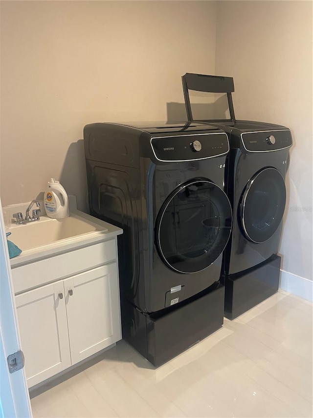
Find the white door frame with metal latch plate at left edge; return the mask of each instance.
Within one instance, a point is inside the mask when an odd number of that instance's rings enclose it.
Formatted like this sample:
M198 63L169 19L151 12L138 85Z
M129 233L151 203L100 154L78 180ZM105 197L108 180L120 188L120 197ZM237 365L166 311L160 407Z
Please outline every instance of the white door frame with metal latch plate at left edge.
M0 199L0 417L32 417L24 369L10 373L9 354L21 350Z

